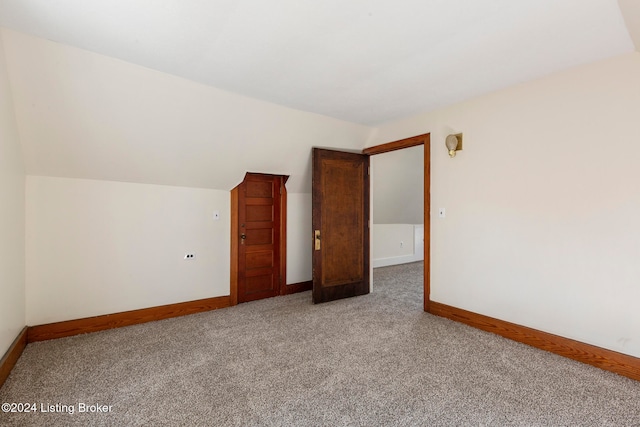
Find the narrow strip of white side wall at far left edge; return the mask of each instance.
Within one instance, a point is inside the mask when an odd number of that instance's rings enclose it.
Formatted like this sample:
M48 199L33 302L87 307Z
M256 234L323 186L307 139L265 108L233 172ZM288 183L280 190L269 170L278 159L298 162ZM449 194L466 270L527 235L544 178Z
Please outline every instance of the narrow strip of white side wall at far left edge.
M24 167L0 34L0 358L25 326Z

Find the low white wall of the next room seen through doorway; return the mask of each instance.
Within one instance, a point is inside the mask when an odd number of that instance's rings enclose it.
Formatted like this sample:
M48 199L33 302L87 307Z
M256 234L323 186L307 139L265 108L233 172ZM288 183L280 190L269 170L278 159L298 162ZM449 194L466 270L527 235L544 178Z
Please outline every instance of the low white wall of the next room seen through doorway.
M423 224L374 224L371 228L371 264L374 268L423 259Z

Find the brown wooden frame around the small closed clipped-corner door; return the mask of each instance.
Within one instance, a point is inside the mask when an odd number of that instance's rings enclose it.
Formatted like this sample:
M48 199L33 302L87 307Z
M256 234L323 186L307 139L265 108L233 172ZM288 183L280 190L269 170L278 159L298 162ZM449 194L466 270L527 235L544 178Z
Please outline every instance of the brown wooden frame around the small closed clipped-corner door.
M280 183L280 283L278 295L287 293L287 187L286 183L289 175L274 175L268 173L247 172L242 182L231 190L231 270L229 277L229 296L231 305L238 305L238 251L240 249L240 227L239 227L239 211L238 211L238 192L240 186L246 181L249 175L261 175L269 177L277 177L281 179Z

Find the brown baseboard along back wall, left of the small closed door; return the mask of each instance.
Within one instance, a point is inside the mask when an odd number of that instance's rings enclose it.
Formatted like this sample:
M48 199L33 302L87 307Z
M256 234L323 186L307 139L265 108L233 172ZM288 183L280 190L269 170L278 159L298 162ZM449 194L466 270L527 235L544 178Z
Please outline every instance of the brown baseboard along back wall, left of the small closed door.
M27 342L45 341L88 332L104 331L122 326L137 325L171 317L202 313L230 307L231 297L206 298L177 304L161 305L140 310L106 314L103 316L86 317L83 319L67 320L65 322L49 323L46 325L30 326L27 332Z

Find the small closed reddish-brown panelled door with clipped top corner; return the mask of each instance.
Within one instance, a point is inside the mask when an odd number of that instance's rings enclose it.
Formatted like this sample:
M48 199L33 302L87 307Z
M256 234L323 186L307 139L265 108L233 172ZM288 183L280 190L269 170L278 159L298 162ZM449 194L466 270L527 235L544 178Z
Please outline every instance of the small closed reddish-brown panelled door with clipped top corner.
M238 187L238 302L280 293L283 178L247 174Z

